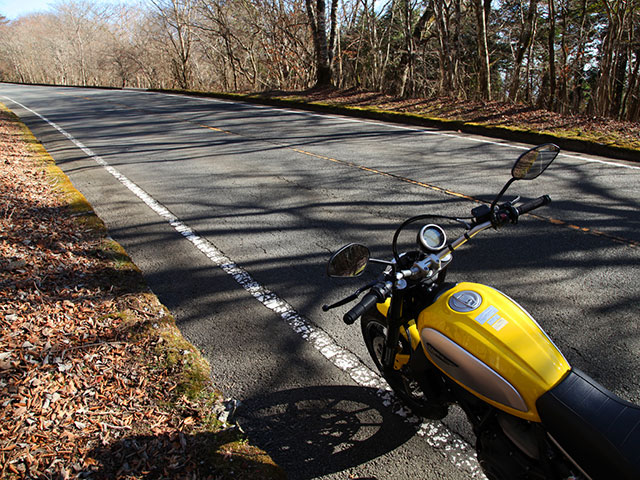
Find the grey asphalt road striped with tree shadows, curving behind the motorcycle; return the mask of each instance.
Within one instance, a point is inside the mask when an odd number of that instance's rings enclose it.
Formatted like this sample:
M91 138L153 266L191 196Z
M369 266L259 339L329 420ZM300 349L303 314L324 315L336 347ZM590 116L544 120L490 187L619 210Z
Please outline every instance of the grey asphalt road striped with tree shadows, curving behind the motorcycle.
M407 421L367 377L357 326L321 311L360 283L327 279L325 263L352 241L388 258L411 215L467 215L468 197L493 198L527 146L142 91L0 84L0 101L84 193L290 478L481 477L457 412L446 427ZM566 153L510 193L553 203L476 237L450 278L507 293L573 366L640 404L640 163Z

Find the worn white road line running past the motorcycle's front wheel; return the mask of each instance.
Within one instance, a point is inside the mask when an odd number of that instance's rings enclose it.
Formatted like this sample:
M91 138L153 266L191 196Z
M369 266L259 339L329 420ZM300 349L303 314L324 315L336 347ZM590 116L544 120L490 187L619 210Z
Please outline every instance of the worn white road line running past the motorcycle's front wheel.
M394 398L393 392L391 392L389 386L380 375L364 365L356 355L338 345L336 341L324 330L301 316L288 302L268 290L266 287L260 285L246 270L233 262L211 242L198 236L188 225L180 221L180 219L171 213L169 209L156 201L142 188L129 180L117 169L109 165L100 156L93 153L91 149L76 140L59 125L9 97L3 96L3 98L19 105L58 130L88 157L92 158L98 165L102 166L107 170L107 172L122 183L122 185L133 192L140 200L151 208L151 210L169 223L169 225L171 225L177 232L189 240L198 250L204 253L214 265L220 267L223 271L233 277L240 286L242 286L265 307L278 314L294 332L309 342L336 367L347 373L358 385L377 388L385 405L391 407L394 413L402 416L406 421L419 426L418 434L424 437L427 440L427 443L432 448L437 449L437 451L440 452L448 461L467 472L470 475L470 478L485 478L478 464L475 450L459 435L449 430L442 422L422 420L410 414L401 405L399 405L397 400Z

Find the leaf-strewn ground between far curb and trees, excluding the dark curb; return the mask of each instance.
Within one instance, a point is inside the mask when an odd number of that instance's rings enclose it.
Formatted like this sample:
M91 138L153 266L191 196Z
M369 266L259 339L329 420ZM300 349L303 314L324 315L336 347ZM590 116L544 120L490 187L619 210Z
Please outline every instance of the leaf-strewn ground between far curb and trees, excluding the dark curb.
M479 102L452 98L398 98L360 90L272 91L260 96L389 111L552 134L640 151L640 123L587 115L562 115L545 109L506 102Z

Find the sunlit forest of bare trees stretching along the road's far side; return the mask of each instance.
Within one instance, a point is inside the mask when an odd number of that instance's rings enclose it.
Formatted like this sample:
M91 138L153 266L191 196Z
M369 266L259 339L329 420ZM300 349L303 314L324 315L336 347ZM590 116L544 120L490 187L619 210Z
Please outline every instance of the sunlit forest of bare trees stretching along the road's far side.
M640 0L62 0L0 17L0 79L26 83L354 88L639 121L639 65Z

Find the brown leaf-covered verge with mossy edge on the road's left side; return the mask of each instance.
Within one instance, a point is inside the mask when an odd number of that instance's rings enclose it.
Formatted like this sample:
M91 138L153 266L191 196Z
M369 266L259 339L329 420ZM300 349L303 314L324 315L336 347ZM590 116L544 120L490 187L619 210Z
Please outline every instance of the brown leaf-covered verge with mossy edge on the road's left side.
M141 272L0 104L0 478L280 479Z

